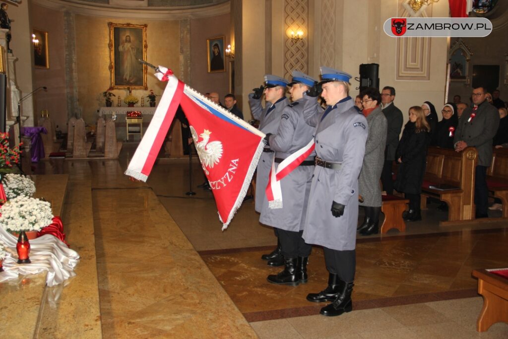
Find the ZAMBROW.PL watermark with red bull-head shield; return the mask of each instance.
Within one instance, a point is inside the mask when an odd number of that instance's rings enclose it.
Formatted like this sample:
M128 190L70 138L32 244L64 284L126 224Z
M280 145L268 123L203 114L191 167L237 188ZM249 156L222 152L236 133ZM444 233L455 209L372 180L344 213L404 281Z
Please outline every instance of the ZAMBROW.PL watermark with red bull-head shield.
M390 18L383 25L390 37L486 37L487 18Z

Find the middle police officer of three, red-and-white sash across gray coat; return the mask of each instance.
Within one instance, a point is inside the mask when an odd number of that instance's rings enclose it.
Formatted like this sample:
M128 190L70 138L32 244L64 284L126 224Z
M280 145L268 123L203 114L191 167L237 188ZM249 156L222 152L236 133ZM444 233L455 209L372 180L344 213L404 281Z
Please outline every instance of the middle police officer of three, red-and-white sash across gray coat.
M305 149L314 138L314 128L307 125L303 118L302 101L303 94L316 83L308 75L293 71L293 81L289 83L293 102L284 108L277 133L268 133L265 138L275 151L275 168L295 152ZM263 203L259 221L278 228L284 257L284 270L269 275L267 280L270 283L297 286L307 282L307 262L312 246L305 243L302 232L314 173L314 157L315 152L310 152L298 167L280 180L281 208L270 208L267 199Z

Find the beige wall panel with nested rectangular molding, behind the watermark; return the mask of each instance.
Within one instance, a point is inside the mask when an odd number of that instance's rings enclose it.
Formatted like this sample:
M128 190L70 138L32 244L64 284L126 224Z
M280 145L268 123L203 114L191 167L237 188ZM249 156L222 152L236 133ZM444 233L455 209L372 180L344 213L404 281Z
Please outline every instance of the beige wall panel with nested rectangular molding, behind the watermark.
M399 17L409 17L399 1ZM432 16L432 6L422 11L422 17ZM430 80L430 38L397 39L397 80Z

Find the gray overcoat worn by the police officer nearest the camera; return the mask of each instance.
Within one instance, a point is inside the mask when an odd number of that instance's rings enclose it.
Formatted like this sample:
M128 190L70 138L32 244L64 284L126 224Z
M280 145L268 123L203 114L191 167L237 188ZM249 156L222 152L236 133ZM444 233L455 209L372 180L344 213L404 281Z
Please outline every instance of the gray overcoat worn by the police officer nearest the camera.
M316 166L310 187L303 229L305 242L338 251L354 250L358 224L358 176L362 169L368 126L365 116L353 107L351 97L339 101L328 114L316 98L304 96L305 117L314 134L316 156L340 163L339 170ZM333 201L345 205L335 218Z

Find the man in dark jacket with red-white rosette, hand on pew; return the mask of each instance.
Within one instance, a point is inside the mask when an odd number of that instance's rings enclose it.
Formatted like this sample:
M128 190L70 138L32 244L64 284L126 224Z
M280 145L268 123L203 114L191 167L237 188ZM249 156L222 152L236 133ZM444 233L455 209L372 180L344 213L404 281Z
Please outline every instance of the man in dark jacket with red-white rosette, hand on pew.
M478 165L474 170L474 204L476 218L487 218L489 191L487 168L492 161L492 139L499 126L497 108L486 100L485 87L473 88L473 107L464 109L455 132L455 150L472 146L478 150Z

